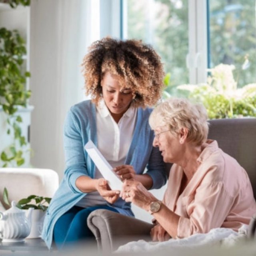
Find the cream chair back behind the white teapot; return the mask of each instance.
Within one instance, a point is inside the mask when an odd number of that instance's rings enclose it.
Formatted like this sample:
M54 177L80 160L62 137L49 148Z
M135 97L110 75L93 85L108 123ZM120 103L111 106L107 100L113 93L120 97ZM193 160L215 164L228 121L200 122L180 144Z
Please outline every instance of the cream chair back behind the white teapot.
M58 186L58 174L50 169L0 168L0 211L4 210L1 207L8 208L3 201L4 187L8 190L9 201L18 202L32 194L52 197Z

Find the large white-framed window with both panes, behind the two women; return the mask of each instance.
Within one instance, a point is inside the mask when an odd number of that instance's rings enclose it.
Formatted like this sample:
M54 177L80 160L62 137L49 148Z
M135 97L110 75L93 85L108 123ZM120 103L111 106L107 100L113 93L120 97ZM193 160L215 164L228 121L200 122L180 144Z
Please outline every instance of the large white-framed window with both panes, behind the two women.
M238 86L256 80L252 0L121 0L122 36L140 38L160 54L175 86L205 82L207 68L233 64Z

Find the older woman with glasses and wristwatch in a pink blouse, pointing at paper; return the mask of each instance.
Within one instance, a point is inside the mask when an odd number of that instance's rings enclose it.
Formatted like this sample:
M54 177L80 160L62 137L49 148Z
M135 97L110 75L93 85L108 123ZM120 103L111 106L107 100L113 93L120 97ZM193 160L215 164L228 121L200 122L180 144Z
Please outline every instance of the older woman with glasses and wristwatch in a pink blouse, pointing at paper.
M171 98L157 106L149 123L153 145L164 162L174 163L163 201L138 181L124 182L126 202L153 214L152 240L164 241L206 233L212 228L238 230L256 212L252 186L238 162L207 140L208 123L202 105Z

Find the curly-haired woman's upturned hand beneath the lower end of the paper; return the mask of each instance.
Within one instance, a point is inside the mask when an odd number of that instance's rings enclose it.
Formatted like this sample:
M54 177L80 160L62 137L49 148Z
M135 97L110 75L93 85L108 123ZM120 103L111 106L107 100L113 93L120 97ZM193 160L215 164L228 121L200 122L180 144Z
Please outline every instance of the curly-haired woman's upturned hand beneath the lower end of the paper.
M96 189L100 195L110 204L114 204L120 194L119 190L110 190L108 182L104 178L98 179L98 182L96 183Z

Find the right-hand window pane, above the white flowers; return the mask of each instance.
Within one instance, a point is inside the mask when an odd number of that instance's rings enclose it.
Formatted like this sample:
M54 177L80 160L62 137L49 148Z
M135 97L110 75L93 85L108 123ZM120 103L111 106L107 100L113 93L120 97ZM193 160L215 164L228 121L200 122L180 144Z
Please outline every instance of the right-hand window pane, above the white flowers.
M238 87L256 82L254 0L209 0L210 65L235 66Z

